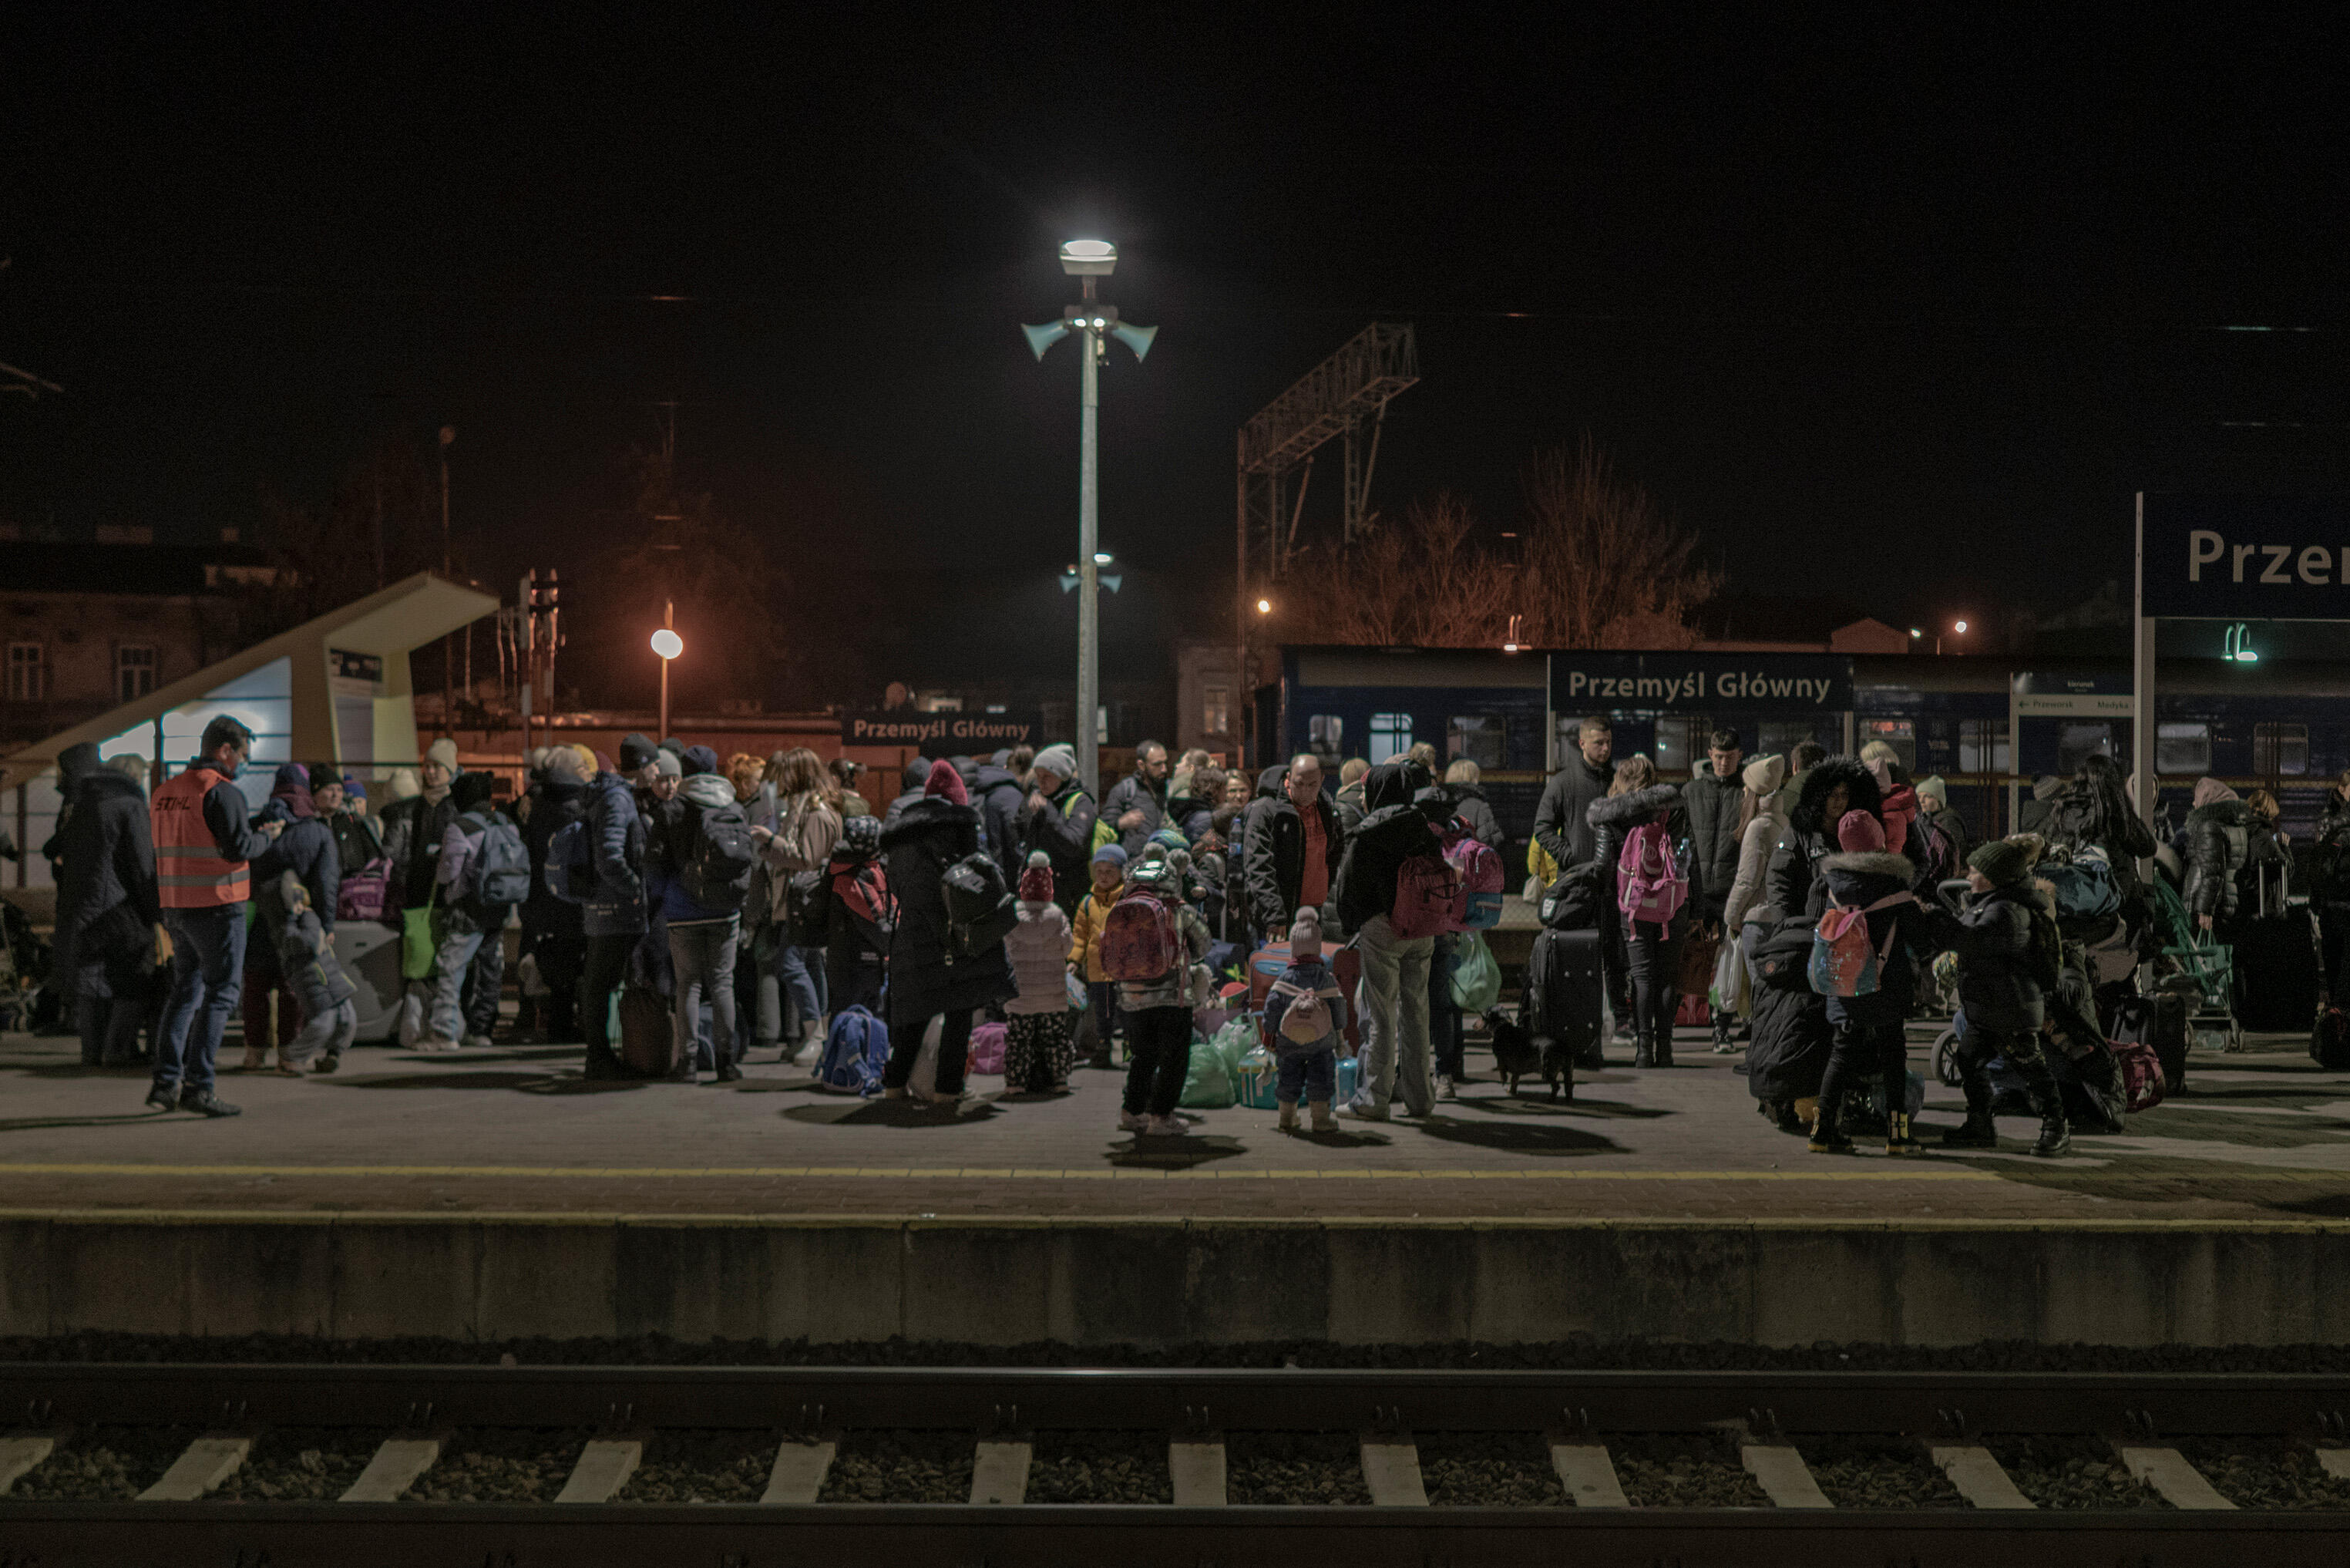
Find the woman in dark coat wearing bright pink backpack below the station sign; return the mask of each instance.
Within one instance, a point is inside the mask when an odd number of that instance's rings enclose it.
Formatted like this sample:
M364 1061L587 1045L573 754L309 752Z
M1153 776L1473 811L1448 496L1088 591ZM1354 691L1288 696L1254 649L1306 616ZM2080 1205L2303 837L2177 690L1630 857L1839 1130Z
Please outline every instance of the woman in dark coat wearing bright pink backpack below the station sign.
M1690 931L1687 910L1704 893L1704 872L1690 853L1690 816L1680 790L1657 783L1657 764L1631 755L1584 820L1596 835L1593 858L1614 910L1614 952L1631 980L1631 1065L1671 1067L1680 943ZM1600 929L1607 929L1605 917Z

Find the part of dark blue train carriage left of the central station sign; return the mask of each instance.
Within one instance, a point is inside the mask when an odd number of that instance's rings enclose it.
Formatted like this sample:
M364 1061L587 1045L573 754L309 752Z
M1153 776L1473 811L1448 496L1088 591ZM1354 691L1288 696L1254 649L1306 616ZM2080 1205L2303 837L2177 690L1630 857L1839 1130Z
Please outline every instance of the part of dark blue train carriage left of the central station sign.
M1436 748L1438 771L1476 762L1516 884L1549 778L1542 677L1542 654L1499 649L1283 649L1281 755L1321 757L1332 790L1347 757L1377 764L1417 741Z

